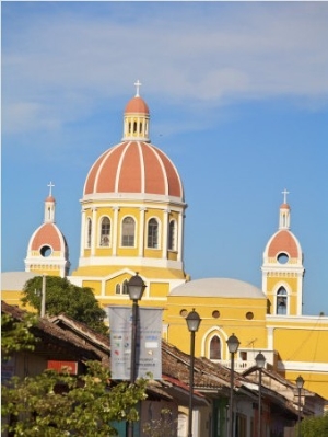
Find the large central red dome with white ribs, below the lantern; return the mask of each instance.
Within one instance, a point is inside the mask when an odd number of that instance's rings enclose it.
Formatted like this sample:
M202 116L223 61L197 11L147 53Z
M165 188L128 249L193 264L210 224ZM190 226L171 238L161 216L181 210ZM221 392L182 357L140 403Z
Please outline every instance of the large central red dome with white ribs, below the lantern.
M121 142L96 160L86 176L83 195L101 193L152 194L184 200L175 165L160 149L144 141Z

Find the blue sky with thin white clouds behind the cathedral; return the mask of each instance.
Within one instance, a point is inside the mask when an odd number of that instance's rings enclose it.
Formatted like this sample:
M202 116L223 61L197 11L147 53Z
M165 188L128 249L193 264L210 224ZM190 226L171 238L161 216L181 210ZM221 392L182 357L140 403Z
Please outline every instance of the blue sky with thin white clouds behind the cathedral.
M288 188L304 314L328 314L327 2L1 2L2 271L23 271L48 183L80 245L87 171L142 82L176 164L192 278L261 286Z

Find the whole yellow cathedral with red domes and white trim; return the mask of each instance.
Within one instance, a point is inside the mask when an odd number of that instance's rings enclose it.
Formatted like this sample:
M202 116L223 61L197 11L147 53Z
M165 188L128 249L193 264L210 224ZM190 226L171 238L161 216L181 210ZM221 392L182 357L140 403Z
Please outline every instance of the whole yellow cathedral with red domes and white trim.
M246 371L261 352L266 366L328 400L328 318L302 315L303 252L291 231L288 192L278 226L263 248L261 289L234 278L191 279L184 266L187 204L178 170L150 139L150 111L140 96L127 103L122 138L105 150L86 174L81 198L78 268L70 273L69 244L56 225L52 183L44 222L30 238L25 272L2 273L2 299L20 304L35 275L68 277L93 289L99 304L130 304L127 283L138 272L147 285L140 306L163 309L163 338L189 353L186 317L201 324L196 356L230 364L227 338L239 347L235 369ZM257 266L255 266L257 268ZM192 273L191 273L192 274Z

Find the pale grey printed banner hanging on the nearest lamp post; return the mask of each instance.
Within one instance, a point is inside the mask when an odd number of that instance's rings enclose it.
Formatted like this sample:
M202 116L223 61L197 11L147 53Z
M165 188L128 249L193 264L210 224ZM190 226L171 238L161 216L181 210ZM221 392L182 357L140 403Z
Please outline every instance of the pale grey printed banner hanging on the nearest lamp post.
M110 327L112 378L130 380L132 307L108 308ZM162 313L161 308L138 307L136 376L162 379Z

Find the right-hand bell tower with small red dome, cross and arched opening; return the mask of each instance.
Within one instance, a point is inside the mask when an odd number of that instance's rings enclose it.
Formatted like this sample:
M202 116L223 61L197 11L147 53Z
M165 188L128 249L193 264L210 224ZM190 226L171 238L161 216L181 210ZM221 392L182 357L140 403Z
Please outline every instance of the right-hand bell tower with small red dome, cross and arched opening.
M291 232L291 208L284 189L279 209L279 229L269 239L262 263L262 291L268 298L268 313L272 315L302 315L303 253Z

